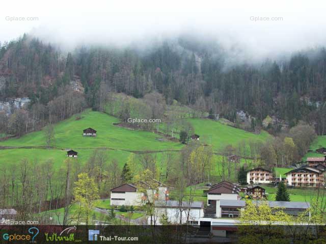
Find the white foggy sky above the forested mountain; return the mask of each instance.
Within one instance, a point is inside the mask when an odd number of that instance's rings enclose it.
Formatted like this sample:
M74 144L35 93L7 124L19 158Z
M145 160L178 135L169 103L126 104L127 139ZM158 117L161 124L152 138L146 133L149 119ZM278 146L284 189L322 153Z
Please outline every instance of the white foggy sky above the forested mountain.
M153 40L191 33L218 39L227 50L249 59L326 46L322 1L223 2L5 1L0 6L0 41L31 33L68 49L78 44L146 46ZM254 21L253 17L283 20Z

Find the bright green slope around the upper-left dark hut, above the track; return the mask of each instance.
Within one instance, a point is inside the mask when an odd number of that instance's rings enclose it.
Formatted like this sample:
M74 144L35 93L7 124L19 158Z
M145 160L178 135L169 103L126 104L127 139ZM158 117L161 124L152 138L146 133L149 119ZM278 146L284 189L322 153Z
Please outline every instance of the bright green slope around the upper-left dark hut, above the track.
M165 150L180 149L179 143L159 142L159 136L148 131L121 128L112 123L119 122L117 118L90 110L62 121L55 126L55 145L59 148L96 148L108 147L118 150ZM97 137L83 137L83 129L92 127L97 130ZM24 135L19 139L9 139L0 142L0 146L44 146L43 131L36 131Z

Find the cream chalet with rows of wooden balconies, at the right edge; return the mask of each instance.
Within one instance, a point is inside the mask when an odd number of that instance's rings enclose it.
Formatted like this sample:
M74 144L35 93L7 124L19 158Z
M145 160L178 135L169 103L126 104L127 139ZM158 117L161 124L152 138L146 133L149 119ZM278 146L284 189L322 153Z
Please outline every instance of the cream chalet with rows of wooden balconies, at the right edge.
M324 185L323 171L314 167L303 166L287 172L286 179L293 186L320 186Z

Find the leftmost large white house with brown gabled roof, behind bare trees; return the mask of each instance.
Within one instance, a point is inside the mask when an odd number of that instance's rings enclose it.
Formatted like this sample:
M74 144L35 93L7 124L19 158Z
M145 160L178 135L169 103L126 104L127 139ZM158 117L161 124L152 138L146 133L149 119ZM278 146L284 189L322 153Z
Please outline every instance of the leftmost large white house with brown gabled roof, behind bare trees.
M169 200L169 187L155 179L153 179L158 185L157 192L155 190L156 201L168 201ZM144 181L138 181L132 184L125 183L111 189L111 201L110 205L114 206L141 206L146 203L146 194L140 191L146 189L147 196L151 196L151 188L149 183ZM150 200L151 201L151 200Z

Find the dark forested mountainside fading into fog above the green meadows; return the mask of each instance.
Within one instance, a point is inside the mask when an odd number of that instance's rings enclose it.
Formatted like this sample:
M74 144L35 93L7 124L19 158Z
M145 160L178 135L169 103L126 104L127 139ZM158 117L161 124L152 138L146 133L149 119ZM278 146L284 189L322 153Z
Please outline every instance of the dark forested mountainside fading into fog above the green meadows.
M82 46L69 52L24 35L2 44L0 100L27 96L31 103L11 116L0 113L0 133L21 135L85 107L102 111L109 91L136 98L158 92L167 104L176 100L232 122L242 110L252 116L252 131L273 115L271 132L280 131L280 121L292 127L300 120L325 132L324 48L232 66L227 55L218 42L184 36L146 50Z

